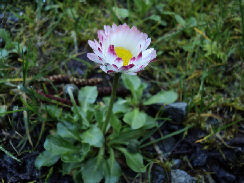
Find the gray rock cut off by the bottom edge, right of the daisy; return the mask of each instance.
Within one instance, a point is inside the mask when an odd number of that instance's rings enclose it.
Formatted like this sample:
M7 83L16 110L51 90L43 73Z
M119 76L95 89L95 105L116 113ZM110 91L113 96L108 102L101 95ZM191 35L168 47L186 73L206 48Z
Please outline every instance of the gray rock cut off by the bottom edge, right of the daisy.
M176 169L171 171L171 183L195 183L196 179L185 171Z

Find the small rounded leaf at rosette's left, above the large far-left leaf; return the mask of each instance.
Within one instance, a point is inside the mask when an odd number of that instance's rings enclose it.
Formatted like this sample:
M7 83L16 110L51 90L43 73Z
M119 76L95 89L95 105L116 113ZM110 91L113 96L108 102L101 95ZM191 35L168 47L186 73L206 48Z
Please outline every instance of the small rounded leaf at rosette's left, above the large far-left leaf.
M79 140L79 135L76 132L76 127L68 122L57 124L57 134L63 138L73 138Z

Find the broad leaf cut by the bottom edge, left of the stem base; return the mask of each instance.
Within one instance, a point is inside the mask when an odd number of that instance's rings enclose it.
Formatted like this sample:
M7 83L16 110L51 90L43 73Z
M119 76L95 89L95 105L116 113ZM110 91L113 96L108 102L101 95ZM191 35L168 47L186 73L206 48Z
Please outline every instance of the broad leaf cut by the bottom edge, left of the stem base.
M89 159L83 166L81 173L84 183L99 183L103 178L103 168L96 166L97 158Z

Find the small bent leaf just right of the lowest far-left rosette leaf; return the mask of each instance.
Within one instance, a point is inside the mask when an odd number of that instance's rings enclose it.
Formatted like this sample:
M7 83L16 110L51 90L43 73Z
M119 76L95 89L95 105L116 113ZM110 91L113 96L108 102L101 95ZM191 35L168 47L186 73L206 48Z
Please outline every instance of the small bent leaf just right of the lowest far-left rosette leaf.
M82 144L82 147L80 147L79 149L80 151L78 153L62 154L61 160L66 163L82 162L90 151L90 146L88 144Z

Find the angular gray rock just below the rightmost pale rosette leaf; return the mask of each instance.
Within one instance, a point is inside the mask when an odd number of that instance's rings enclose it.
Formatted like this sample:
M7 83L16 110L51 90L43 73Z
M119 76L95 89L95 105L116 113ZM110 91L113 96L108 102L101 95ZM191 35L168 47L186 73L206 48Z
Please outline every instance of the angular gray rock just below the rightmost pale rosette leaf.
M168 104L164 107L164 114L171 118L173 122L181 123L187 115L187 103Z

